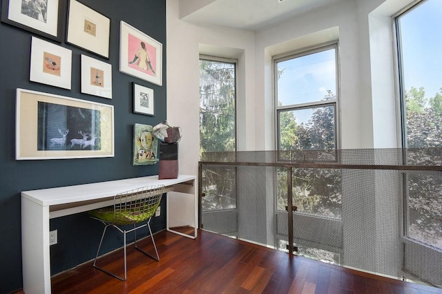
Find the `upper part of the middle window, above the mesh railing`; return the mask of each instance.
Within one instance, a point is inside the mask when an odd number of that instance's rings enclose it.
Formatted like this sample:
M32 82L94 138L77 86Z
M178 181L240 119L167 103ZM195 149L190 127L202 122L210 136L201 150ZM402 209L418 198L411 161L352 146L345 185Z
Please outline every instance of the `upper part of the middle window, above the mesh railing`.
M337 46L275 60L278 150L336 149Z

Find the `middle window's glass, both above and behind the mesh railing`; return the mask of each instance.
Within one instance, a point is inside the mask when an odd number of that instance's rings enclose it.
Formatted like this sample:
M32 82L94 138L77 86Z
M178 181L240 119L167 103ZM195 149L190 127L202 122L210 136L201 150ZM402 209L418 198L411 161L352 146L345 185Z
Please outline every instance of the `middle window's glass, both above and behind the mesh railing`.
M336 149L337 44L274 59L278 150ZM341 217L340 170L294 169L298 212ZM287 169L276 169L277 207L287 205Z

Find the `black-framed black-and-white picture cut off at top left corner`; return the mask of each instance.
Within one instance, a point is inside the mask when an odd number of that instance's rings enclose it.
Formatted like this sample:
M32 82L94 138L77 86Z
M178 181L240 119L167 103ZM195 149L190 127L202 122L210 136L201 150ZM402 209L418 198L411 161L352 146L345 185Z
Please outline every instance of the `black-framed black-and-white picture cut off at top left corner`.
M66 14L66 1L67 0L47 0L46 7L48 3L52 3L52 5L57 4L57 8L52 9L50 15L46 15L46 17L50 17L50 21L47 25L46 22L41 21L41 26L52 30L52 34L48 31L39 30L38 25L33 25L32 23L37 22L38 20L33 20L35 17L30 17L30 15L26 15L23 13L24 8L21 6L23 3L22 0L2 0L1 1L1 22L7 23L8 25L13 25L17 28L21 28L22 30L26 30L28 32L32 32L33 34L38 34L39 36L44 36L47 39L51 39L61 43L64 38L65 31L65 22L64 22L64 14ZM22 14L21 17L23 21L15 19L12 15L9 15L10 8L17 8L20 3L21 12L19 10L14 9L15 15ZM12 4L12 6L11 6ZM40 12L43 14L43 12Z

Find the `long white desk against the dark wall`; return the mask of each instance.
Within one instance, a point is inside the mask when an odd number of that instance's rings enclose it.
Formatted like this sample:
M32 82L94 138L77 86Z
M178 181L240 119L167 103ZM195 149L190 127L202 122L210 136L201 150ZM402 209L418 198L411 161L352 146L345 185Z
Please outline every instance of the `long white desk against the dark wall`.
M26 294L50 293L49 220L51 218L106 207L113 204L113 196L117 193L150 185L164 185L166 192L173 192L166 196L166 229L195 239L198 227L198 193L195 176L180 175L171 180L158 180L158 176L148 176L22 191L23 291ZM171 229L182 226L195 228L193 235Z

